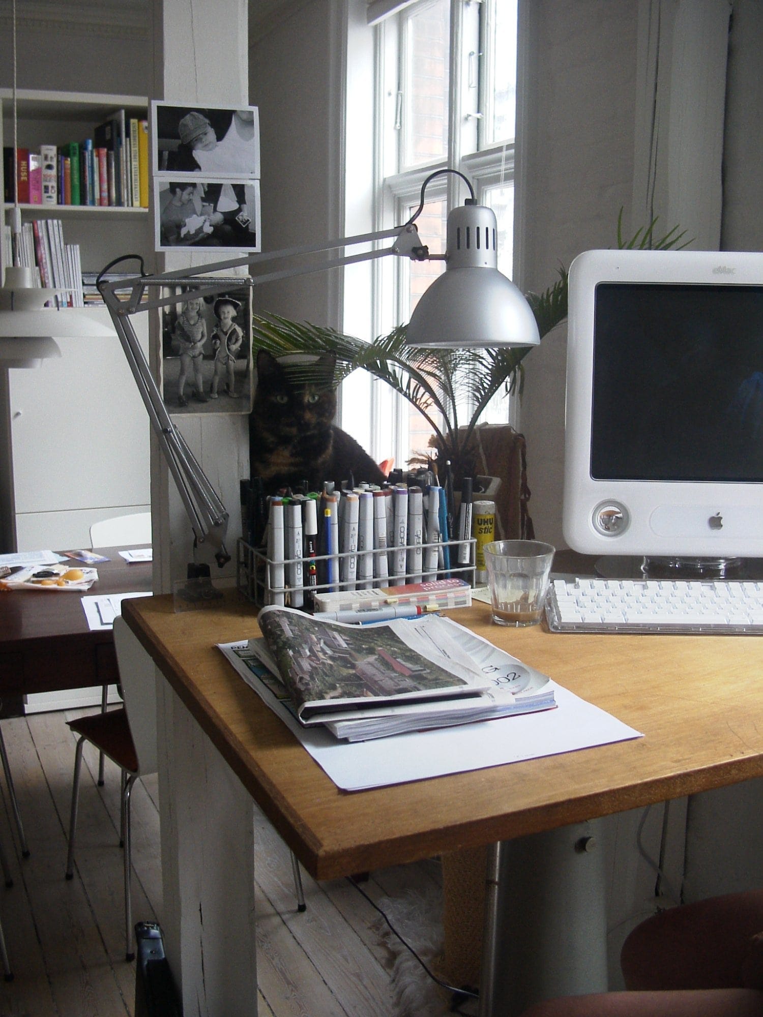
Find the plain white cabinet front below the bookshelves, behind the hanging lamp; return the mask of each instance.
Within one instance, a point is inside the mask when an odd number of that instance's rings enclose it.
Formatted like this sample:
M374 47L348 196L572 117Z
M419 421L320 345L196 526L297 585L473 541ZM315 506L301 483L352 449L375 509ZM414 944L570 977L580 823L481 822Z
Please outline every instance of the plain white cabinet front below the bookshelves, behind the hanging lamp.
M89 547L92 523L150 505L149 417L119 340L56 342L60 360L4 372L4 550Z

